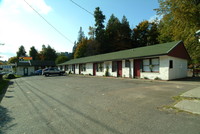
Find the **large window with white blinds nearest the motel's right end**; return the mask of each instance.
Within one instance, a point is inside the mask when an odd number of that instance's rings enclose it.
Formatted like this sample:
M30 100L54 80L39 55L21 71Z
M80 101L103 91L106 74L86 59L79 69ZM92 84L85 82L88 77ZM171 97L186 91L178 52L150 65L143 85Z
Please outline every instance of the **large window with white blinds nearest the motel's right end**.
M159 58L144 59L143 72L159 72Z

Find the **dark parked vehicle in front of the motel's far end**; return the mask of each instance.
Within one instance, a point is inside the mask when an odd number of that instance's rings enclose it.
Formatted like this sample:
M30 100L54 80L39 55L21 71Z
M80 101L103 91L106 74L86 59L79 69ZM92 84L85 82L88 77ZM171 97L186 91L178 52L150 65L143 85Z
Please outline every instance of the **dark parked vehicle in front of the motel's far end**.
M49 75L63 75L65 71L61 71L58 68L46 68L43 70L43 75L49 76Z

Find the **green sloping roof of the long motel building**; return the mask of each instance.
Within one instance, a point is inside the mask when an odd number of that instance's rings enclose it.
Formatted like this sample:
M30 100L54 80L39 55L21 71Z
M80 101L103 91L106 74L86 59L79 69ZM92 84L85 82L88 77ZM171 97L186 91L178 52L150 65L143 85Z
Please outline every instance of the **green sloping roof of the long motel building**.
M129 59L129 58L166 55L179 43L181 43L181 41L174 41L174 42L157 44L157 45L152 45L152 46L139 47L139 48L117 51L117 52L112 52L112 53L77 58L77 59L69 60L59 65L113 61L113 60Z

